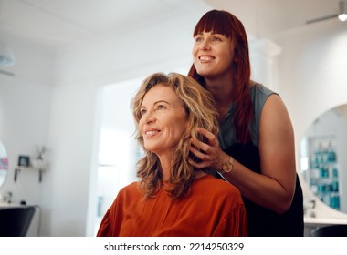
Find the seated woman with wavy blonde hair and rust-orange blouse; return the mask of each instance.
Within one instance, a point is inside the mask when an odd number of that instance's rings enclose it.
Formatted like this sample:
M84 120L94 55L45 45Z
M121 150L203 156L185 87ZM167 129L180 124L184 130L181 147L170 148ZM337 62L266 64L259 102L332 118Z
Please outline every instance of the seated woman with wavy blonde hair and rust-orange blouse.
M139 181L121 189L98 236L247 236L238 189L190 163L198 129L218 131L211 95L191 77L153 74L133 98L132 111L145 153L137 164Z

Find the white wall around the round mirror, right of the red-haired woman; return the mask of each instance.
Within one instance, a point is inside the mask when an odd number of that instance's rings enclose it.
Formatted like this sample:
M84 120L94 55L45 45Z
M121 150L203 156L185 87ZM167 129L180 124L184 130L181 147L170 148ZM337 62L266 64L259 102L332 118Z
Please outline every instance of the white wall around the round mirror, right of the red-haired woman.
M295 129L297 166L300 140L314 119L347 103L347 23L329 20L301 26L272 38L282 49L279 93L289 107ZM302 182L305 198L310 191ZM317 217L347 218L317 201Z

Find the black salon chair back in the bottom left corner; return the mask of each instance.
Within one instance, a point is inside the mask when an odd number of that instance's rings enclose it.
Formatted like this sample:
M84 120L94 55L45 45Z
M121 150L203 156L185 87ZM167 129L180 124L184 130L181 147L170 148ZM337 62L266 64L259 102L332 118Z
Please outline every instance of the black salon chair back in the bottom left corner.
M0 209L0 237L25 237L35 207L13 207Z

